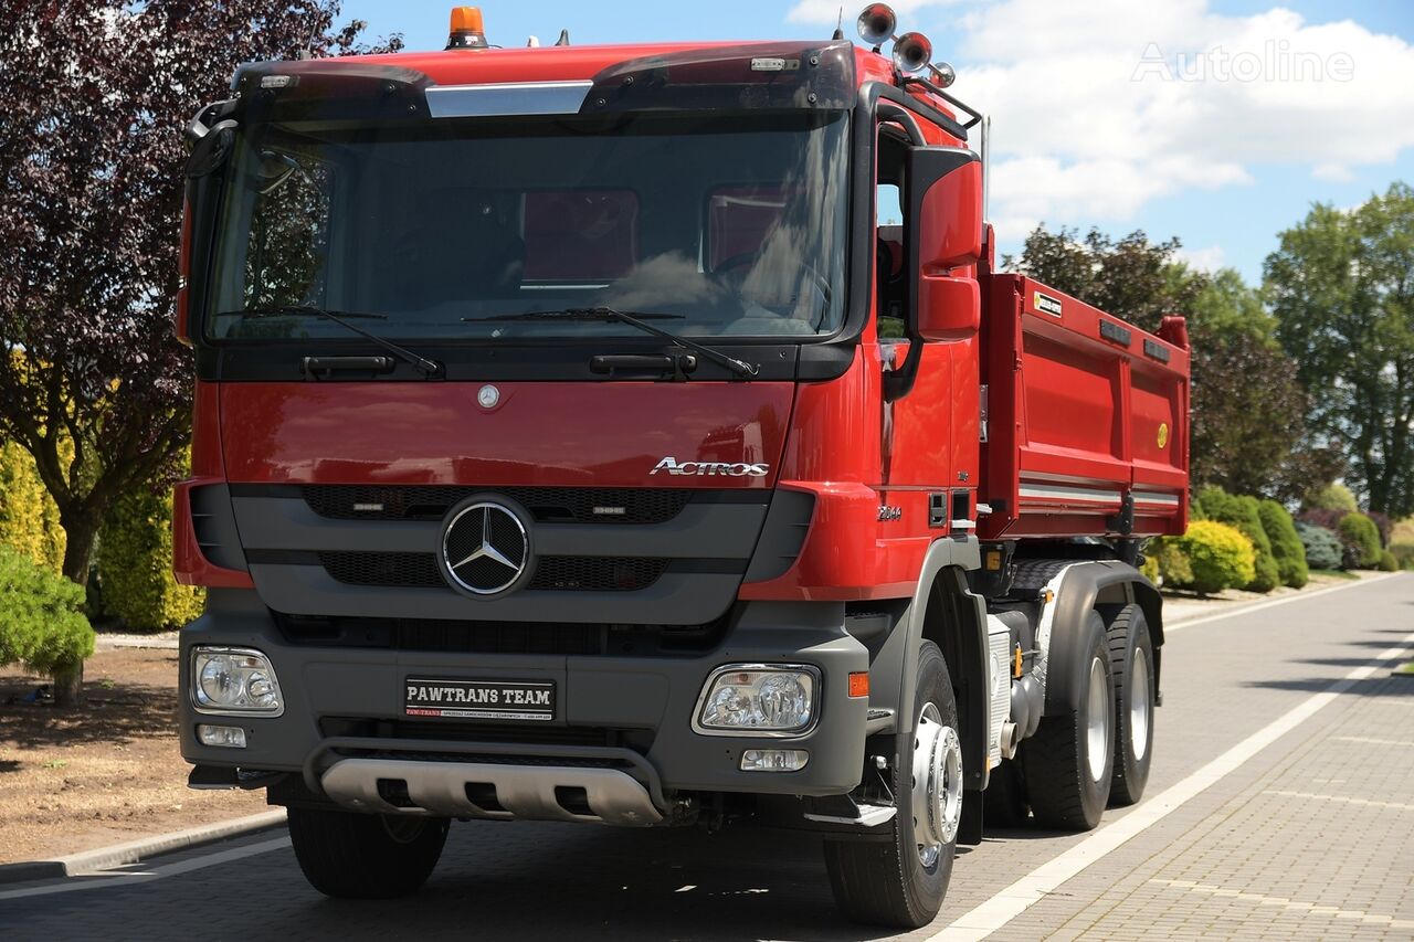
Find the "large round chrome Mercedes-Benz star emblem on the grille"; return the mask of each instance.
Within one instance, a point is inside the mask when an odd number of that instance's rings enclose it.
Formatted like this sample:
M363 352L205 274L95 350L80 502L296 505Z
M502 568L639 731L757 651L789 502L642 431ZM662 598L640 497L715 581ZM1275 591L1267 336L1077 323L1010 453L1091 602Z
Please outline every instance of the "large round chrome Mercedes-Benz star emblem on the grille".
M472 499L452 512L443 535L447 577L475 595L515 586L530 562L530 537L520 515L491 499Z

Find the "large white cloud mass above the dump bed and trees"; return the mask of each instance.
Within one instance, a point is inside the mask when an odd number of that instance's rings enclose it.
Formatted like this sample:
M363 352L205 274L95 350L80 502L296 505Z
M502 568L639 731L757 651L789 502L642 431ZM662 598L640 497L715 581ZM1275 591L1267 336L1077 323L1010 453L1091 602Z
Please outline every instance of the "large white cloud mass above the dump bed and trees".
M1414 47L1350 20L1220 16L1208 0L929 6L901 18L949 40L952 92L993 117L1004 239L1038 221L1128 223L1155 198L1243 185L1263 164L1348 180L1414 147ZM792 17L824 8L803 0Z

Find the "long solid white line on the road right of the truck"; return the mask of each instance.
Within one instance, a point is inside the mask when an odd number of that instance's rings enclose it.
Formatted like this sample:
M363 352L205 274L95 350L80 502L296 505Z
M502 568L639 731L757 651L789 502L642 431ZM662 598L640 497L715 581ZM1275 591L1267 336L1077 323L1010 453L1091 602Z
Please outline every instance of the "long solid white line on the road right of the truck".
M1372 580L1366 580L1362 584L1367 584L1369 581ZM1342 586L1340 588L1345 587ZM1246 614L1249 611L1251 608L1244 608L1241 612L1233 614ZM1041 864L991 900L954 919L942 932L933 935L929 942L963 942L987 938L1039 902L1048 892L1055 892L1060 884L1077 876L1110 851L1117 850L1131 837L1144 833L1168 818L1169 813L1182 808L1184 803L1202 793L1208 786L1234 772L1243 762L1309 720L1318 710L1332 703L1356 683L1374 676L1383 665L1404 655L1410 645L1414 645L1414 634L1406 635L1396 646L1389 648L1363 668L1350 670L1321 693L1311 694L1294 709L1208 762L1208 765L1203 765L1181 782L1171 785L1165 792L1138 805L1118 820L1104 825L1069 850Z

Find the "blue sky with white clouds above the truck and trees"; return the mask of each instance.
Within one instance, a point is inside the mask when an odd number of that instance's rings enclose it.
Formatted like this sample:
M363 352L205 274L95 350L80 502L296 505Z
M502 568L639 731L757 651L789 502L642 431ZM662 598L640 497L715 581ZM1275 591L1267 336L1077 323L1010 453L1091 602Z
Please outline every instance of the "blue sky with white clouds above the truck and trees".
M445 45L451 3L345 0L372 37ZM851 38L863 3L844 7ZM1199 269L1261 280L1277 233L1314 202L1359 205L1414 182L1414 3L898 0L950 89L991 117L998 249L1097 226L1178 236ZM489 40L546 45L826 38L839 0L482 4ZM887 50L885 50L887 52Z

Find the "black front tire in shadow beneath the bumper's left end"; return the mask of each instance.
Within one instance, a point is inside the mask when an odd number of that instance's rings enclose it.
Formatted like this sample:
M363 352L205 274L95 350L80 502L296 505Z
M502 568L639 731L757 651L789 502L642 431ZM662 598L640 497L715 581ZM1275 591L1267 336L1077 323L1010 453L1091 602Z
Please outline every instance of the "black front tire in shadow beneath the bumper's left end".
M359 815L291 808L290 843L304 878L327 897L392 900L414 892L431 876L445 818Z

